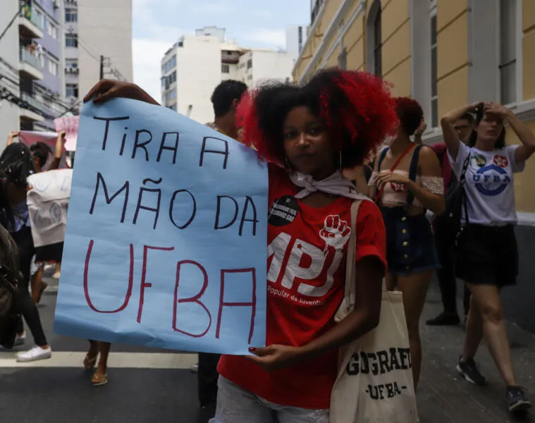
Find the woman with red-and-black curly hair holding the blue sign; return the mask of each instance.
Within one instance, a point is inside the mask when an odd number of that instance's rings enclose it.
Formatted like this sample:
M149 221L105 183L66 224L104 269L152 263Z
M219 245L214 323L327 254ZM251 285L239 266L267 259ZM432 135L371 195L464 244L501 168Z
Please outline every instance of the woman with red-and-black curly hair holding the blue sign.
M85 101L93 97L157 104L136 85L109 80ZM328 422L338 348L379 324L386 273L385 228L371 201L360 205L357 254L347 257L350 208L363 196L341 171L392 132L394 106L379 78L339 70L304 86L265 85L240 102L242 140L270 163L268 346L223 355L212 422ZM355 261L356 304L336 324L346 258Z

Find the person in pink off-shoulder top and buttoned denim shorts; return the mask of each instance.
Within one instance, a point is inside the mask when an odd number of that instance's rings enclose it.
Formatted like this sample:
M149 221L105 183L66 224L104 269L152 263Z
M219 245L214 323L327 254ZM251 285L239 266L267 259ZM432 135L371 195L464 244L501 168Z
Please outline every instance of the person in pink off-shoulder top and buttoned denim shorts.
M391 147L383 149L369 181L370 197L381 207L386 226L388 276L386 286L403 293L409 332L414 388L422 366L419 321L433 271L438 268L426 209L441 214L444 188L436 154L410 140L422 127L424 111L413 99L396 99L400 121ZM383 170L384 169L384 170Z

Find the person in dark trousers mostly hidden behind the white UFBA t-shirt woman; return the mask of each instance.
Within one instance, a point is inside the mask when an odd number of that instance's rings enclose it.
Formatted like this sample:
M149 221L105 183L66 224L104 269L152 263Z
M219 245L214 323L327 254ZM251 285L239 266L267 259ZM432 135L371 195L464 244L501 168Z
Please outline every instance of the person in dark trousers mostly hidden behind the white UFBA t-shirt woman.
M469 141L470 134L474 128L474 116L469 113L462 115L453 124L453 128L459 139L466 144ZM441 161L445 195L455 182L455 175L451 169L445 143L438 142L431 145L431 148L435 151L438 159ZM442 305L444 309L437 317L426 321L426 324L429 326L454 326L460 322L459 314L457 314L457 281L455 279L455 260L453 259L455 234L452 233L449 226L445 224L443 216L434 217L433 231L435 233L438 261L441 263L441 268L436 270L436 276L438 278L438 286L441 289ZM463 303L466 323L466 317L468 316L470 307L470 291L466 285L464 285L464 287L465 292L463 295Z

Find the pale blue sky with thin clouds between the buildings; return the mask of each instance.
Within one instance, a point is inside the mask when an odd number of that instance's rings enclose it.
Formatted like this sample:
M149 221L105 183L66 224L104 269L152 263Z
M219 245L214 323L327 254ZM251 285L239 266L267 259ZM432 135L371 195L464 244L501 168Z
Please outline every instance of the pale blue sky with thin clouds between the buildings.
M310 0L133 0L134 82L159 100L164 53L204 26L241 47L285 48L287 25L308 25Z

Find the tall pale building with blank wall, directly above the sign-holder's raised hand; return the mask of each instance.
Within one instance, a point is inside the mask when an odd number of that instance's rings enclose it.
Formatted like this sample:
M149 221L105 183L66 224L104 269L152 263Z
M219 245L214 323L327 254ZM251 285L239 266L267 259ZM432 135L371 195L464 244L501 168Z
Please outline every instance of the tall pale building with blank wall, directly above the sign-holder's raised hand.
M76 103L100 79L133 80L132 0L65 0L65 95Z

